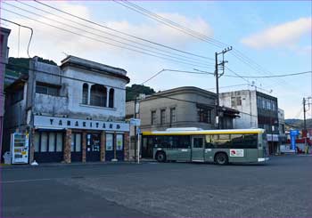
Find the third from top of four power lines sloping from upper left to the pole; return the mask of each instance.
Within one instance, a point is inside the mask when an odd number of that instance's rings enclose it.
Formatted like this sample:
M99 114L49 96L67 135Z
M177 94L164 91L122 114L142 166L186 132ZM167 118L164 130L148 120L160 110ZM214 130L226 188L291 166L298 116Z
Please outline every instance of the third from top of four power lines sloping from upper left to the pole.
M8 4L8 3L5 3L5 2L4 2L4 4ZM18 7L18 6L12 5L12 4L8 4L8 5L10 5L10 6L14 7L14 8L17 8L17 9L19 9L19 10L21 10L21 11L29 12L28 10L22 9L21 7ZM85 29L77 28L77 27L75 27L75 26L72 26L72 25L70 25L70 24L66 24L66 23L64 23L64 22L62 22L62 21L59 21L59 20L54 20L54 19L51 19L51 18L46 18L46 17L42 16L41 14L37 14L36 12L29 12L29 13L35 14L35 15L38 16L38 17L45 18L46 20L53 20L54 22L57 22L57 23L59 23L59 24L62 24L62 25L64 25L64 26L67 26L67 27L70 27L70 28L78 29L78 30L80 30L80 31L86 32L87 34L91 34L91 35L94 35L94 36L99 36L99 37L102 37L102 38L104 38L104 39L108 39L108 40L110 40L110 41L114 41L114 42L119 43L119 44L125 44L125 45L127 45L127 46L134 47L135 49L143 50L143 51L145 51L145 52L156 53L156 54L163 55L163 56L166 56L166 57L169 57L169 58L173 58L173 59L175 59L175 60L177 59L178 61L182 60L182 61L185 62L185 63L190 62L190 63L192 63L192 65L197 65L197 66L201 66L201 68L206 68L206 66L204 66L204 65L198 65L198 64L199 64L198 61L188 61L188 60L181 59L181 58L177 58L177 57L174 57L174 56L171 56L171 55L168 55L168 54L164 54L164 53L161 53L161 52L154 52L154 51L152 51L152 50L144 49L144 48L142 48L142 47L139 47L139 46L136 46L136 45L133 45L133 44L128 44L128 43L121 42L121 41L116 40L116 39L113 39L113 38L111 38L111 37L98 35L98 34L95 34L95 33L93 33L93 32L87 31L87 30L85 30ZM42 21L41 21L41 22L42 22ZM43 22L43 23L45 23L45 22ZM45 24L46 24L46 23L45 23ZM118 45L118 46L120 46L120 45ZM193 64L193 63L195 63L195 64ZM201 64L201 63L200 63L200 64Z

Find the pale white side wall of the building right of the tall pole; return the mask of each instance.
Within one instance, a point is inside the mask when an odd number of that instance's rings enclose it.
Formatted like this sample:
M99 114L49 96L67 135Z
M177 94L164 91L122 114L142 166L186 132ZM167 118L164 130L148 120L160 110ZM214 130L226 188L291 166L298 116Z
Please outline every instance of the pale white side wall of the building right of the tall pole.
M242 105L232 105L232 97L241 97ZM240 111L240 117L234 119L234 129L258 127L257 96L255 91L242 90L230 93L220 93L219 102L220 106Z

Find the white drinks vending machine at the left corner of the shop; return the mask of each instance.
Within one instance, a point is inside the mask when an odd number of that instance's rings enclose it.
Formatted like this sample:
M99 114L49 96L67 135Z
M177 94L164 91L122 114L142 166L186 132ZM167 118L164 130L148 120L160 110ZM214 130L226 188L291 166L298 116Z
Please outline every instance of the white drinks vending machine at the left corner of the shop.
M29 163L29 133L11 134L12 164Z

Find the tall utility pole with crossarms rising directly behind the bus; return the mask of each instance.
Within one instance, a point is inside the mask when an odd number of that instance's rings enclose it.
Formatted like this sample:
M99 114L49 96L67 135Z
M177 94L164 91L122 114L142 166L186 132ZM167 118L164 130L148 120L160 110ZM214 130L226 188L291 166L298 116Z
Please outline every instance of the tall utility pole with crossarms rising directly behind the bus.
M218 79L219 77L222 77L225 74L225 63L227 61L225 61L225 53L229 52L232 50L232 46L225 48L222 52L215 52L215 59L216 59L216 64L215 64L215 77L216 77L216 93L217 93L217 101L216 101L216 128L219 129L220 128L220 120L219 120L219 93L218 93ZM222 62L218 63L218 55L222 54ZM219 75L218 74L218 67L222 66L222 73Z

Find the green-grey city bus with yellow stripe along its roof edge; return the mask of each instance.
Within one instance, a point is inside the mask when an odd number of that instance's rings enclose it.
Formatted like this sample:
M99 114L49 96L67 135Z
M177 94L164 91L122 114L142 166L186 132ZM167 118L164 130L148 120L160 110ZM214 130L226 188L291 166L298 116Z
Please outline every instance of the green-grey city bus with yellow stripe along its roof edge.
M141 147L159 162L259 163L268 160L266 137L264 129L169 128L143 132Z

